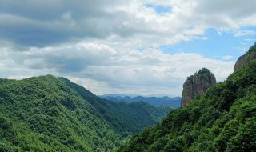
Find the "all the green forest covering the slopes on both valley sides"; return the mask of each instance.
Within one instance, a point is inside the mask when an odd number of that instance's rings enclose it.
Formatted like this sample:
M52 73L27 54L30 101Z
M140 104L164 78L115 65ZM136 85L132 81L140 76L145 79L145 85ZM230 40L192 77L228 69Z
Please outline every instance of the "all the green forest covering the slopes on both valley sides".
M255 52L226 81L171 111L111 102L52 75L1 78L0 151L254 151Z

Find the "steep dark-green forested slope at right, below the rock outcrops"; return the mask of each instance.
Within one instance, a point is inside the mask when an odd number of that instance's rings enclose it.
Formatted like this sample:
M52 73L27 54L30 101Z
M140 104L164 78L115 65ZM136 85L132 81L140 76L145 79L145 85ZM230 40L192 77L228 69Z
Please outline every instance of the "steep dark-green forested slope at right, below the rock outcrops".
M255 141L256 61L251 60L118 151L255 151Z

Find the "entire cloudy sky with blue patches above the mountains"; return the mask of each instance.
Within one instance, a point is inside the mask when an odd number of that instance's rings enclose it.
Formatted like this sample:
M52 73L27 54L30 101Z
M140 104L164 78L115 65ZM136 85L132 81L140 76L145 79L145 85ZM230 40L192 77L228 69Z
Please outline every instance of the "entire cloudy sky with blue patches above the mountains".
M0 0L0 78L53 74L94 94L181 96L225 81L256 41L255 0Z

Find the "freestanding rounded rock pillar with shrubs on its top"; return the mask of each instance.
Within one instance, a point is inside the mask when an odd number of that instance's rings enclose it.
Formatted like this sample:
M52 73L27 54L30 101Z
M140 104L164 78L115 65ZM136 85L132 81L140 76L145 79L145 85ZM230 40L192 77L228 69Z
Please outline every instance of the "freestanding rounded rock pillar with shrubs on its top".
M198 73L191 75L183 84L182 106L188 106L192 98L201 96L215 83L214 74L206 68L202 68Z

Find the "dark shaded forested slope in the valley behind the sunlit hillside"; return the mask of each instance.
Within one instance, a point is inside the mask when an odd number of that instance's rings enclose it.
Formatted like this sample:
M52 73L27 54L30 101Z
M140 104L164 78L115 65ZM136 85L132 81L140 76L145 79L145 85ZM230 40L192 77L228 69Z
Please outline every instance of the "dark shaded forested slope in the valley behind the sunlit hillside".
M154 125L160 118L166 115L166 111L162 111L162 109L151 106L146 102L131 104L110 102L99 98L89 90L70 82L66 78L62 78L62 81L75 90L83 99L90 102L110 126L121 134L134 133L142 130L145 126Z

